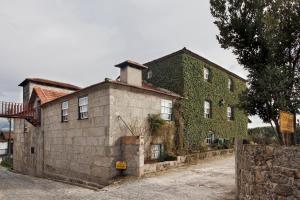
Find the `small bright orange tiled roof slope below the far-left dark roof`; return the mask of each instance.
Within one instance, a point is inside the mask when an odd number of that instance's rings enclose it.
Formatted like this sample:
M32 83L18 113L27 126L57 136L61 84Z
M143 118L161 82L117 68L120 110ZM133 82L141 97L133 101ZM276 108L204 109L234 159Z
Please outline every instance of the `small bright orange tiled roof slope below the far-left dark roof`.
M40 87L34 87L33 93L35 93L40 98L41 104L47 103L49 101L53 101L57 98L60 98L68 94L56 90L43 89Z

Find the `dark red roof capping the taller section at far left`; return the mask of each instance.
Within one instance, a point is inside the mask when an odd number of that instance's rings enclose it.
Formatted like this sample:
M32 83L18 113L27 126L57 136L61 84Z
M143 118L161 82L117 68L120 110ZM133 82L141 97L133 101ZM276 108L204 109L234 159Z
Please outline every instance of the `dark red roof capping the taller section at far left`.
M69 89L69 90L74 90L74 91L81 89L78 86L71 85L68 83L51 81L51 80L41 79L41 78L26 78L22 83L19 84L19 86L24 86L28 82L33 82L33 83L38 83L38 84L48 85L48 86L54 86L54 87L59 87L59 88L64 88L64 89Z

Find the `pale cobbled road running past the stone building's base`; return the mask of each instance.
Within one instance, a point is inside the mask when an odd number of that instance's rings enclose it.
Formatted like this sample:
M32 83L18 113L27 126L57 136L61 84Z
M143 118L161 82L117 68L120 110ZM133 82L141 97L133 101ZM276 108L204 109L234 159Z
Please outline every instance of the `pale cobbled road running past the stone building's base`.
M0 200L234 199L234 157L173 169L100 191L14 174L0 168Z

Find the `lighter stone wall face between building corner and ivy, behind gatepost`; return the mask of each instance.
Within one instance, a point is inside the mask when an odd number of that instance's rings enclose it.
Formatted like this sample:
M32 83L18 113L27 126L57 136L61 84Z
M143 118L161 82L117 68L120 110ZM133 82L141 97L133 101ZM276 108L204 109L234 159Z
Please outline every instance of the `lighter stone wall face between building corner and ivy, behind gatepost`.
M145 159L150 156L150 146L154 143L163 143L163 140L153 140L148 129L148 115L160 114L161 100L173 100L167 95L158 95L147 91L128 88L126 86L111 86L110 88L110 128L109 145L113 148L112 155L121 158L120 138L123 136L144 136ZM130 127L133 133L126 127ZM118 171L113 169L112 173Z

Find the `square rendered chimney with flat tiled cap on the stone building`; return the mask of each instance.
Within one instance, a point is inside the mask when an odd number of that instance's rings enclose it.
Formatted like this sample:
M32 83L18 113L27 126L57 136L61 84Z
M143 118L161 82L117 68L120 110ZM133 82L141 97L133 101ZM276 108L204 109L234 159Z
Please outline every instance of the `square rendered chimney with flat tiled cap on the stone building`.
M142 86L142 70L148 69L145 65L126 60L115 67L120 68L120 81L129 85Z

